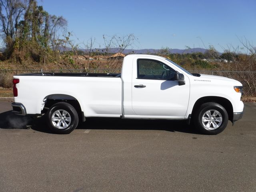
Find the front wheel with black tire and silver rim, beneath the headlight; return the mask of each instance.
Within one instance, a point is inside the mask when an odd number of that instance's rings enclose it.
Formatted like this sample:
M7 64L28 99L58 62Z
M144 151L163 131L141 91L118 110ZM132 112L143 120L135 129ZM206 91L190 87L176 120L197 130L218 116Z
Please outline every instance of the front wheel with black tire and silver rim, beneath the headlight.
M194 114L193 120L195 127L202 134L216 135L226 128L228 113L220 104L208 102L200 106Z

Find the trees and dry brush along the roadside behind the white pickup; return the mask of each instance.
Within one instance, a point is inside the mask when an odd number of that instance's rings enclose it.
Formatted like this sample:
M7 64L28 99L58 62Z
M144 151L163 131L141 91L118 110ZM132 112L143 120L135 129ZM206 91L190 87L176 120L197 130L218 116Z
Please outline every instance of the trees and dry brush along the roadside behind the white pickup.
M137 41L133 34L102 35L102 45L95 45L94 38L76 44L67 26L65 18L49 14L38 6L37 0L0 0L0 38L4 44L0 53L0 87L10 88L13 74L20 73L8 70L116 72L121 69L124 50ZM149 54L169 58L192 72L216 71L216 75L235 78L243 83L246 96L256 96L256 74L252 73L256 71L256 48L246 38L240 43L243 49L230 46L223 48L222 54L213 46L204 53L170 54L166 47Z

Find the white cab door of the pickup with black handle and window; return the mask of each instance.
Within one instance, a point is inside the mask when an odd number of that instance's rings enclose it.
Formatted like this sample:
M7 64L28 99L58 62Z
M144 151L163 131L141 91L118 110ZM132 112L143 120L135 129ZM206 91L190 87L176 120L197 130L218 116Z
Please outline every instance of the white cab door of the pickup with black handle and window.
M176 70L158 60L137 59L132 77L132 109L148 118L184 118L189 99L189 80L179 86Z

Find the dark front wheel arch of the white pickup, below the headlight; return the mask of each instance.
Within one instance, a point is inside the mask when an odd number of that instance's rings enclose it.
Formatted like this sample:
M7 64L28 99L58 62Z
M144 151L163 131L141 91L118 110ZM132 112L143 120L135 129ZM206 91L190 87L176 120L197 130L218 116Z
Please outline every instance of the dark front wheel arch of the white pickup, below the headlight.
M196 110L204 103L207 103L207 102L215 102L215 103L218 103L220 105L222 105L226 111L228 112L228 120L231 120L233 119L233 106L230 102L230 100L224 98L224 97L218 97L218 96L205 96L205 97L202 97L202 98L199 98L195 104L194 104L194 107L192 109L192 117L193 117L193 114L195 114Z

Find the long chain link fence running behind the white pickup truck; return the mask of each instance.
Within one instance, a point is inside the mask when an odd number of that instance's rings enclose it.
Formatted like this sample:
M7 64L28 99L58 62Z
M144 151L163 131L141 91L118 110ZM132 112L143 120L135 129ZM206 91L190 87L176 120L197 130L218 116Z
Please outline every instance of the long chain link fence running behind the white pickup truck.
M62 70L0 70L0 86L11 87L12 76L28 73L85 73L82 69ZM248 71L190 71L191 73L224 76L240 81L244 86L244 96L256 96L256 72ZM121 69L89 69L86 73L121 73Z

